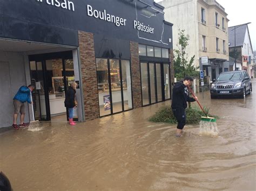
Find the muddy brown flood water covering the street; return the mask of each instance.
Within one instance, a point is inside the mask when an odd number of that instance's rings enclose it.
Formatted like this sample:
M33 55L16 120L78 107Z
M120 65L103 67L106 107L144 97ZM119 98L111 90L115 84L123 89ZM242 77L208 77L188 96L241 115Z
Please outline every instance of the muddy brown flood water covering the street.
M217 138L199 136L199 124L176 138L176 125L147 121L170 101L73 127L4 132L0 171L14 190L255 190L254 79L253 90L246 100L198 95L220 117Z

